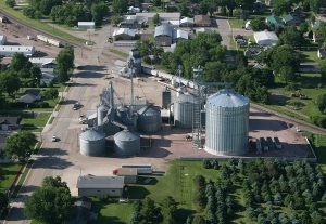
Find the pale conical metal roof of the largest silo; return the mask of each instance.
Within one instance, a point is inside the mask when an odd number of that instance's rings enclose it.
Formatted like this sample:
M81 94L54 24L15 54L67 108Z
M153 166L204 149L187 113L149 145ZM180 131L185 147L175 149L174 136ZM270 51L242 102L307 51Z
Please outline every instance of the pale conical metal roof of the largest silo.
M249 100L233 90L221 90L208 98L209 105L216 107L241 107L249 104Z

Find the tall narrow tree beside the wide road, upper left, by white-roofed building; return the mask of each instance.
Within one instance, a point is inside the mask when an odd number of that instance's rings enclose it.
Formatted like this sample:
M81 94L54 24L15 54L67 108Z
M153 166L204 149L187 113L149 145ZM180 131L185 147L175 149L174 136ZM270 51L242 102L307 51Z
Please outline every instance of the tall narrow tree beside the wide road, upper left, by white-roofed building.
M68 70L74 67L74 49L72 47L65 47L57 55L55 61L58 64L55 71L60 82L66 82L70 80Z

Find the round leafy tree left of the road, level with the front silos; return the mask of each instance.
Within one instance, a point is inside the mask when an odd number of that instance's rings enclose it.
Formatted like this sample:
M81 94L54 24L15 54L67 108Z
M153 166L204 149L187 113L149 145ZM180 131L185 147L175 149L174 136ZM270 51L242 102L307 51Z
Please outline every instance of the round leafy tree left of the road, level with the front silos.
M17 158L25 161L33 154L35 144L37 143L35 134L28 131L20 131L8 137L4 151L8 157Z

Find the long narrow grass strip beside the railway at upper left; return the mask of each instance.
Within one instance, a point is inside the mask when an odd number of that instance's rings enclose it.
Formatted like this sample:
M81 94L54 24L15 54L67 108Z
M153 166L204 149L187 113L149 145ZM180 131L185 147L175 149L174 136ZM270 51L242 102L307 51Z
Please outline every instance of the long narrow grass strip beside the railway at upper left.
M85 40L80 39L80 38L77 38L77 37L74 37L67 32L64 32L64 31L61 31L46 23L42 23L40 21L36 21L36 19L32 19L32 18L28 18L26 16L23 15L22 11L18 11L18 10L14 10L10 6L8 6L5 3L4 0L0 0L0 8L2 10L4 10L7 13L10 13L12 16L16 17L17 19L21 19L21 21L24 21L24 23L28 24L29 26L33 26L33 27L36 27L36 28L39 28L43 31L47 31L47 32L50 32L52 35L55 35L55 36L59 36L65 40L68 40L68 41L74 41L74 42L79 42L79 43L85 43Z

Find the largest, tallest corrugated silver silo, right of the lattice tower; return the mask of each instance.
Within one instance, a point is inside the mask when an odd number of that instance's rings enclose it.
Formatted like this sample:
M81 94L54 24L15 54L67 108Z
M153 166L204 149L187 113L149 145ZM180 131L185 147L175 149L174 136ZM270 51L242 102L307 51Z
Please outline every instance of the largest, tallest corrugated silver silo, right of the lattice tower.
M249 100L233 90L222 90L206 101L205 150L214 155L246 153Z

